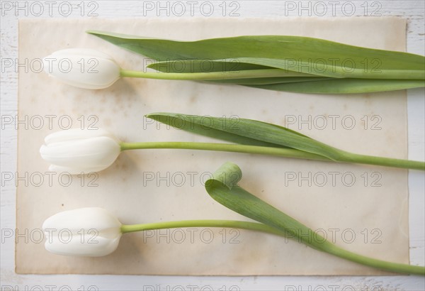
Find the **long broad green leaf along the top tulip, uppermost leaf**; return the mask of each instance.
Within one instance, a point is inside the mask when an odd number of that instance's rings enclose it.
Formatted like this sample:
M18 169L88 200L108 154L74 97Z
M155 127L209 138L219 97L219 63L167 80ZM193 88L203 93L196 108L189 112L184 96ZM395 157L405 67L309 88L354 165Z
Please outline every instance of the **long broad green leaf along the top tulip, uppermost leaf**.
M361 48L318 38L244 35L176 41L104 31L87 32L160 62L237 60L324 77L425 79L425 57L421 55Z

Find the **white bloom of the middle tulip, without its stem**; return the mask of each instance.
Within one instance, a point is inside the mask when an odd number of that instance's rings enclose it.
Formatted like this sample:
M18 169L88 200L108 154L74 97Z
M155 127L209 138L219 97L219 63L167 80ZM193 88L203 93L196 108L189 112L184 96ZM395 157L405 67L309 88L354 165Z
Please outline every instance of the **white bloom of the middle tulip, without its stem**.
M46 136L40 155L52 164L50 171L77 175L108 168L120 150L120 141L108 131L74 128Z

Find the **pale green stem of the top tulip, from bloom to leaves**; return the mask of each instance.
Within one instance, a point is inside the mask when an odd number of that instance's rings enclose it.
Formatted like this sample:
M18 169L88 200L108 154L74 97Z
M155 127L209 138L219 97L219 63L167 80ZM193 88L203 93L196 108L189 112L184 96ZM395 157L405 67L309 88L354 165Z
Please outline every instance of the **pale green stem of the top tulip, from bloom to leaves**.
M247 79L258 77L317 77L316 75L303 74L299 72L288 72L280 69L243 70L235 72L142 72L132 70L121 70L120 77L136 77L146 79L174 79L174 80L217 80L217 79Z

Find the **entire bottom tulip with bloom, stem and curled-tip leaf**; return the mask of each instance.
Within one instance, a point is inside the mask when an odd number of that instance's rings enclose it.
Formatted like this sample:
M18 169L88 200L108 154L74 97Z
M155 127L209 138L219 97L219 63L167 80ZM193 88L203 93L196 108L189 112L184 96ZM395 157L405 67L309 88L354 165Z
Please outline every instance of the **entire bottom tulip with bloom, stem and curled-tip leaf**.
M205 183L205 189L220 204L259 222L209 219L124 225L105 209L82 208L60 212L45 220L42 225L46 237L45 248L57 255L99 257L113 253L118 248L122 234L135 231L188 227L247 229L285 238L297 238L299 243L305 243L317 251L324 251L381 270L425 275L424 267L377 260L351 253L334 245L299 221L254 197L242 187L234 187L239 182L234 180L234 174L239 179L242 177L242 172L237 165L225 163L214 173L215 178ZM227 179L228 177L232 179ZM293 234L298 236L309 234L309 237L306 238L305 235L297 237Z

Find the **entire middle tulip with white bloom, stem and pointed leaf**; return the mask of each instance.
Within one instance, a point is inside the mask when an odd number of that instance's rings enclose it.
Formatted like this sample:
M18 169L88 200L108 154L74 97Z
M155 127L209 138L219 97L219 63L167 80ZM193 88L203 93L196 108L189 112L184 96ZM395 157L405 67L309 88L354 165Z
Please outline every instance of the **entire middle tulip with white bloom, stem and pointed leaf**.
M239 144L174 141L124 143L108 131L72 129L47 136L46 145L40 148L41 156L52 163L50 170L70 174L104 170L112 165L123 150L154 148L216 150L425 170L425 163L421 161L348 153L288 128L261 121L239 119L237 126L234 126L232 120L225 121L212 116L208 116L207 123L203 122L203 116L196 115L159 113L149 114L148 117L184 131Z

